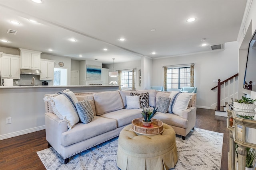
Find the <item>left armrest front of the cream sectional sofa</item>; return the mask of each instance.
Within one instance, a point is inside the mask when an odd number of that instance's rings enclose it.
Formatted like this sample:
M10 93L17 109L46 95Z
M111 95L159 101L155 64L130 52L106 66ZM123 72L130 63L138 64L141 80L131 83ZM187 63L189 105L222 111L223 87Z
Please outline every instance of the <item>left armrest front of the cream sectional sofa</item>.
M60 146L61 134L68 131L66 120L60 119L54 113L45 113L46 141L56 149Z

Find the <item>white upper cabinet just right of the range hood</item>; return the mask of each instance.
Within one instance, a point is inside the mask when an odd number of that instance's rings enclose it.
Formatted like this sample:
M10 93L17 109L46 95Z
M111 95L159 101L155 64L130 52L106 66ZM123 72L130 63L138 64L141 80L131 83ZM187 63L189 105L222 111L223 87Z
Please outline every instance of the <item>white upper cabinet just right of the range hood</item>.
M53 80L54 78L54 61L41 59L40 80Z

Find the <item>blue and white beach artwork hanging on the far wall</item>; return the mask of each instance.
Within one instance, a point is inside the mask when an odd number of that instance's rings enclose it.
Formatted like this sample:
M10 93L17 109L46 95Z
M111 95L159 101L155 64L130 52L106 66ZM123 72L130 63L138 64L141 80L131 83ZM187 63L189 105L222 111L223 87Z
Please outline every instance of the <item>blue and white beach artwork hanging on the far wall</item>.
M86 80L101 80L101 66L86 65Z

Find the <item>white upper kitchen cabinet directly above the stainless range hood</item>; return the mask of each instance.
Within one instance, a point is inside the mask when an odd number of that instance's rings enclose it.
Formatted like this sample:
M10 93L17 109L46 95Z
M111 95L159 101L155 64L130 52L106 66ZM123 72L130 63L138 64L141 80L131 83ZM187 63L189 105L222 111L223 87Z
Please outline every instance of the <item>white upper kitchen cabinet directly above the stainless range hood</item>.
M20 51L20 68L40 70L42 52L21 48L18 50Z

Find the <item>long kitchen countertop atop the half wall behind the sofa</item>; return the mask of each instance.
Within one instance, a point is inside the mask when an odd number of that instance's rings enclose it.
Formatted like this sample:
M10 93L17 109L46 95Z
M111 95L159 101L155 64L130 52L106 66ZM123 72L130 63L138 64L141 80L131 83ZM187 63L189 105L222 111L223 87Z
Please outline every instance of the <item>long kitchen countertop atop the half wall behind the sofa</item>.
M68 88L68 87L119 87L118 85L70 85L70 86L0 86L0 88Z

